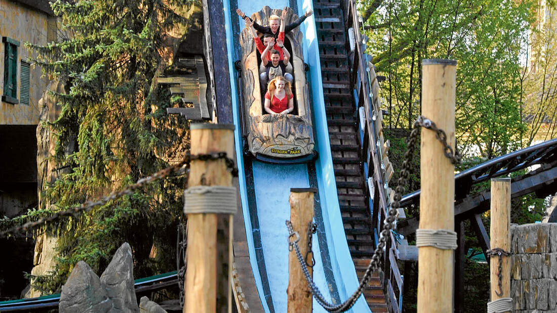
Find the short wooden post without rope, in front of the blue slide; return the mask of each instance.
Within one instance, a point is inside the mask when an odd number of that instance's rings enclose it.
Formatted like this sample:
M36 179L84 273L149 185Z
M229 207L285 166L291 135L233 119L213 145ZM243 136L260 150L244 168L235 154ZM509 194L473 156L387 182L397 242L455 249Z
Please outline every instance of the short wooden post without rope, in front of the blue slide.
M302 256L306 256L307 252L307 228L309 222L314 217L314 192L315 188L291 188L290 189L290 222L292 229L300 235L298 246ZM311 257L311 254L310 254ZM312 260L306 260L311 262ZM310 263L311 264L311 263ZM288 289L288 309L289 313L311 312L312 296L307 281L302 272L300 262L296 258L294 250L288 254L289 281ZM310 275L313 275L313 269L307 268Z

